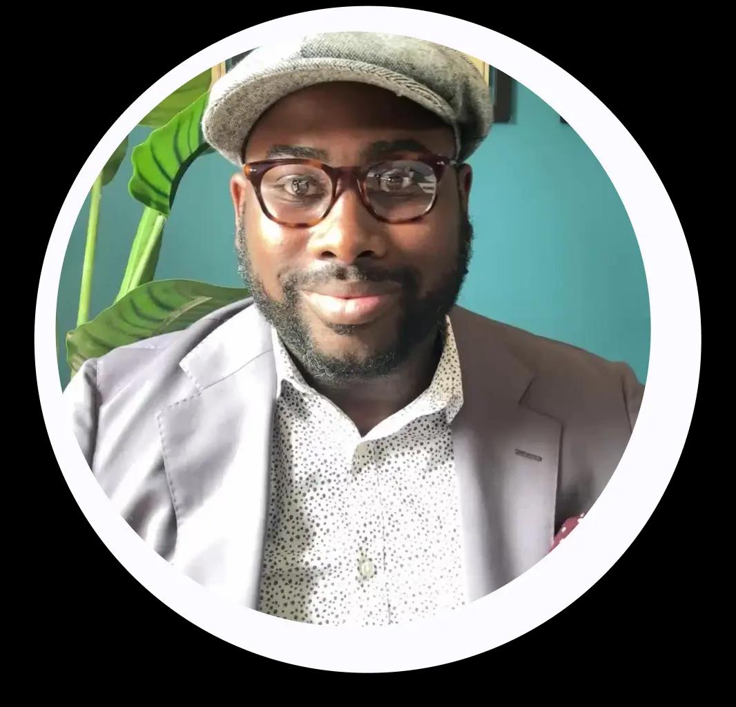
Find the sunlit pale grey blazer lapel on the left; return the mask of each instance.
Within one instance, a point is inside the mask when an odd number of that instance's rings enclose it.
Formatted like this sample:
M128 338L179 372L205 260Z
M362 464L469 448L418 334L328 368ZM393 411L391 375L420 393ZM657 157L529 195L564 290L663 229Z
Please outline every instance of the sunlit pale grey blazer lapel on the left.
M275 405L269 326L249 307L180 366L199 392L158 416L177 516L171 563L257 608Z

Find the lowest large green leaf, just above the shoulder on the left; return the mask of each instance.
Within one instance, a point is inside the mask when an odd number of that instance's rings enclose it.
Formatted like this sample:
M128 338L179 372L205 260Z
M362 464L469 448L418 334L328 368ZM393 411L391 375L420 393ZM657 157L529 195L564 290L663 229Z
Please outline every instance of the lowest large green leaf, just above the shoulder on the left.
M247 296L244 288L195 280L153 280L141 285L66 335L66 360L71 374L77 373L88 358L145 338L180 331L202 316Z

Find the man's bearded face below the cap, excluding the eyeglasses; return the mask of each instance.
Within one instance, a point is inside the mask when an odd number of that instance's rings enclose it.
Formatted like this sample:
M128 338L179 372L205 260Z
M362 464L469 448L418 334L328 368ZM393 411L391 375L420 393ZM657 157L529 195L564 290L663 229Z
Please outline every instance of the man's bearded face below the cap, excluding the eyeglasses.
M400 152L454 157L452 130L389 91L353 83L305 88L277 102L250 134L245 160L313 157L358 166ZM241 271L255 303L314 377L386 374L436 333L470 257L470 167L447 168L434 209L389 224L369 213L355 182L328 216L285 227L233 177Z

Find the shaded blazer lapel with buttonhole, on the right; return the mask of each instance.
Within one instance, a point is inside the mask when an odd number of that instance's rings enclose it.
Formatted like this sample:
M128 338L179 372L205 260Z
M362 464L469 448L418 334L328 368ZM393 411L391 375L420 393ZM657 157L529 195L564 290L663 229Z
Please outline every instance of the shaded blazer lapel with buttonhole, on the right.
M487 324L461 308L450 316L463 378L453 450L473 601L551 549L562 427L520 402L534 375Z

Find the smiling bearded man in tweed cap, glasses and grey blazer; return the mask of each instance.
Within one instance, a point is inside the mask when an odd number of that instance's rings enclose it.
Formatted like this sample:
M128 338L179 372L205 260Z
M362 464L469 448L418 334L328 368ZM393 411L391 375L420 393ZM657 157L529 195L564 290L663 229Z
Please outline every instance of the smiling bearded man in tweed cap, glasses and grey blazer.
M213 88L252 299L66 391L110 500L191 578L303 622L430 617L525 572L603 490L629 366L455 305L491 121L467 59L389 35L258 49Z

